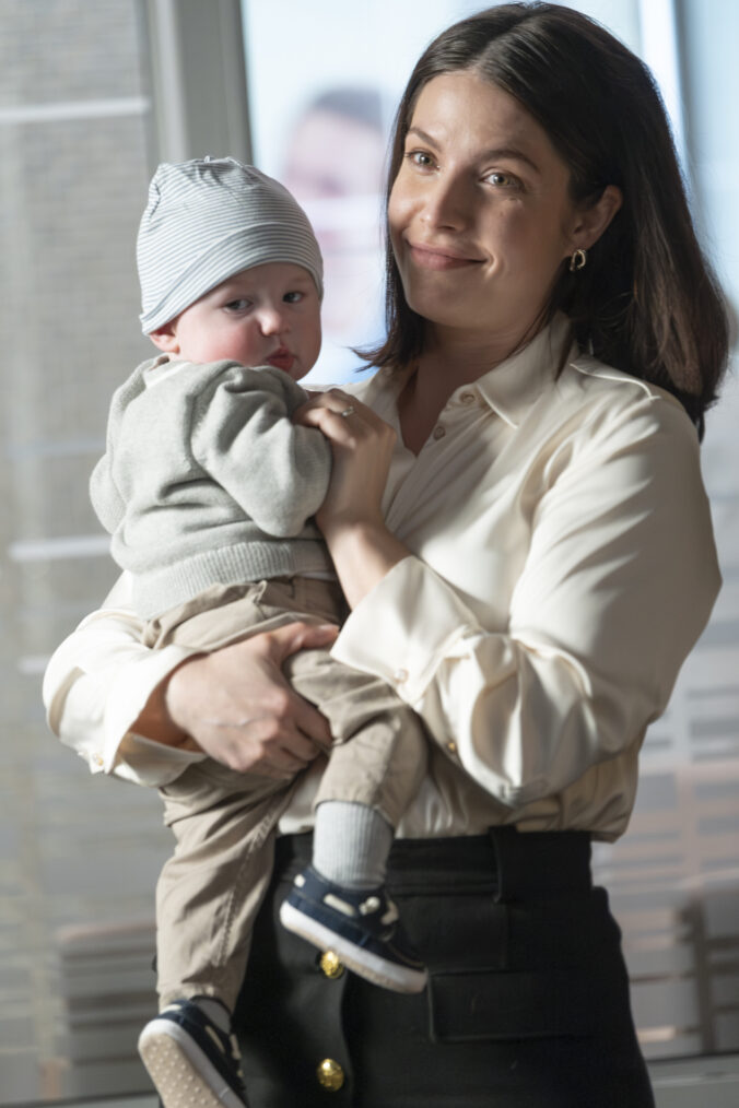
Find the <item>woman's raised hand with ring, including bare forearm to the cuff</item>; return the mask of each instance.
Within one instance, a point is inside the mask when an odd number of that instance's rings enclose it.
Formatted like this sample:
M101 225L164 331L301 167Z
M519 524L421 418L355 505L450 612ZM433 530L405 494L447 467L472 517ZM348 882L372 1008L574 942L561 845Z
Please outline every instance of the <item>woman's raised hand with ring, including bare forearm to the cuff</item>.
M331 481L316 522L353 608L410 553L388 531L382 514L397 434L371 408L341 389L314 396L292 419L318 428L331 443Z

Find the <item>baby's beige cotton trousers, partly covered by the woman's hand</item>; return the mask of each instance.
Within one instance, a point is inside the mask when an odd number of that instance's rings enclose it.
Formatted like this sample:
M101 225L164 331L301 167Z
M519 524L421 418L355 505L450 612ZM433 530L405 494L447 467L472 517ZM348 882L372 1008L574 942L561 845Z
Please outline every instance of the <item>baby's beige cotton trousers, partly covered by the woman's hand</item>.
M218 585L151 620L144 642L214 650L295 619L340 624L345 616L335 582L280 577ZM419 717L384 681L333 660L326 649L292 655L284 671L331 729L316 804L367 804L396 827L425 772ZM213 996L233 1010L271 875L277 821L294 787L206 758L160 790L176 839L156 890L162 1007L177 997Z

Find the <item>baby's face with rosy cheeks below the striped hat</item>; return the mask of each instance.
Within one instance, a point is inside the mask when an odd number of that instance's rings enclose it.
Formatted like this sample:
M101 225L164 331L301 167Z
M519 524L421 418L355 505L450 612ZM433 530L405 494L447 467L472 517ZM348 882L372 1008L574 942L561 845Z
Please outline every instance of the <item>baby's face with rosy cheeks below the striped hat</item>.
M187 361L275 366L299 381L320 350L318 289L302 266L267 261L229 277L152 338Z

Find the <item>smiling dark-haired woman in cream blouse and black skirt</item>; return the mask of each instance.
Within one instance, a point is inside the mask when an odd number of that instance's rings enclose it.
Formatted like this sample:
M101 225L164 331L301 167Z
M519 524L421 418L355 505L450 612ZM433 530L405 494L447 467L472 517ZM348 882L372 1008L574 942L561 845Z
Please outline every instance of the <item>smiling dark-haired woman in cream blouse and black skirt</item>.
M253 1108L648 1106L589 844L625 830L718 592L698 438L727 350L648 73L558 6L455 24L401 101L388 227L379 372L302 419L333 444L335 652L431 736L390 875L427 994L317 965L275 922L325 728L280 667L332 632L151 655L123 581L52 659L50 720L146 783L198 750L306 770L249 966Z

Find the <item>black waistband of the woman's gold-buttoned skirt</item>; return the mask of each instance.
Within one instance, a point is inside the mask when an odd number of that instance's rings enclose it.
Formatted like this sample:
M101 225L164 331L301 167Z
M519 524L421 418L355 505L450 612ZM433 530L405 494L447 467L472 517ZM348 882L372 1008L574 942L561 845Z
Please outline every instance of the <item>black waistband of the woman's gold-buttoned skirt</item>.
M310 861L311 834L280 835L276 871L291 880ZM396 895L449 889L487 891L500 902L587 894L591 834L587 831L517 831L450 839L396 839L388 860L388 889Z

